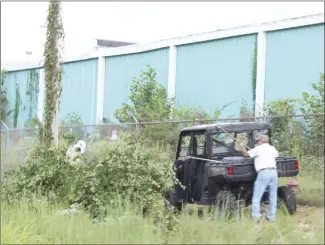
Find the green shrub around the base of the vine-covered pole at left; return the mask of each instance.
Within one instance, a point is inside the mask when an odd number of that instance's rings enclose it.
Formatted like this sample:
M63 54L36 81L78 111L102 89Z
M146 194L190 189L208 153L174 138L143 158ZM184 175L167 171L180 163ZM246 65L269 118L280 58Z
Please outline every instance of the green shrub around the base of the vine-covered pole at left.
M76 168L65 157L67 148L46 149L37 145L25 164L7 174L5 197L14 202L20 197L41 195L51 201L64 201L74 182Z

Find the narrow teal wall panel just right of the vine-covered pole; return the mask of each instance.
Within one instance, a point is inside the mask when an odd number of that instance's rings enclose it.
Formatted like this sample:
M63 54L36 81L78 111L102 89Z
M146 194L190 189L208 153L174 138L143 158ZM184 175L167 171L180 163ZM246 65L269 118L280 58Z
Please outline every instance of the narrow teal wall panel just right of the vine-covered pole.
M65 63L60 119L78 113L85 124L96 123L98 59Z

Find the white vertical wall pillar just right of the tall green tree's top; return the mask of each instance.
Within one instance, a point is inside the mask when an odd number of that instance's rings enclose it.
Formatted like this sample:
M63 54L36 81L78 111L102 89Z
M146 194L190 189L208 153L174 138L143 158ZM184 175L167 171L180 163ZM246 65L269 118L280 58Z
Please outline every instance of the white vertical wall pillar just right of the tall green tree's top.
M175 86L176 86L176 57L177 47L169 47L169 64L168 64L168 98L175 97Z

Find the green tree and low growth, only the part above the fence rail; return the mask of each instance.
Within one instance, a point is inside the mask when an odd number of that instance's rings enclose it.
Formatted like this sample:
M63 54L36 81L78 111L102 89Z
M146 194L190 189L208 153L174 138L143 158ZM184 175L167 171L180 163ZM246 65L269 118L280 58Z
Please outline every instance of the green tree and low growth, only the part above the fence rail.
M130 103L123 103L115 112L121 123L216 119L230 104L215 107L209 113L202 108L174 107L175 98L168 98L166 89L156 80L156 71L149 65L139 78L133 78L130 85Z

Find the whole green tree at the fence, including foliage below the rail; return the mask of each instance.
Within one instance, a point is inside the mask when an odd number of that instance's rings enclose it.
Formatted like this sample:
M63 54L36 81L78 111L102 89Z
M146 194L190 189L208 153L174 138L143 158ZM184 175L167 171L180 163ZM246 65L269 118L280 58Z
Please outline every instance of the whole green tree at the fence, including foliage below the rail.
M156 71L151 66L146 66L139 78L133 78L130 85L129 103L115 111L115 117L121 123L139 122L140 136L146 141L161 142L175 145L178 130L191 126L196 120L215 119L230 104L221 108L216 107L212 113L202 108L174 108L174 98L168 98L167 90L157 82ZM159 123L145 124L143 122L191 120L190 123ZM141 124L142 123L142 124Z

